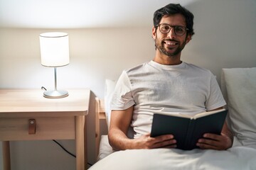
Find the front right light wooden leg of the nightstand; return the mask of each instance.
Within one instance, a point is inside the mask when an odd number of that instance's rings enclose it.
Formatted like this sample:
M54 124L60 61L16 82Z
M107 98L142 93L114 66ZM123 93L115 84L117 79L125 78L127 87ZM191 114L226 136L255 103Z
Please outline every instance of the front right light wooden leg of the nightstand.
M85 115L75 116L76 169L87 169Z

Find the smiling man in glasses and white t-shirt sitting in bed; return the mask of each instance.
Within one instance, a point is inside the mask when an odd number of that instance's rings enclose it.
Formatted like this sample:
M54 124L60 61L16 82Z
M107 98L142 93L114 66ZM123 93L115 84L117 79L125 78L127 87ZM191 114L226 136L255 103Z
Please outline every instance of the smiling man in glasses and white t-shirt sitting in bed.
M154 13L154 59L122 72L114 91L109 131L114 149L175 148L174 135L150 137L156 111L194 115L225 106L213 74L181 61L181 51L193 34L193 14L179 4ZM127 136L129 127L133 128L132 138ZM233 135L225 123L221 135L206 133L197 146L222 150L232 143Z

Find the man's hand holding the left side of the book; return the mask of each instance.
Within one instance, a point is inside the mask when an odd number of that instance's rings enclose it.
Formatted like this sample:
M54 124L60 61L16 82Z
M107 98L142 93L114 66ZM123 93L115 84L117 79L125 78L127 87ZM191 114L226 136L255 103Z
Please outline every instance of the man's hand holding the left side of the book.
M161 135L150 137L150 134L134 139L134 149L154 149L160 147L175 148L176 140L174 135Z

